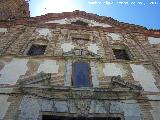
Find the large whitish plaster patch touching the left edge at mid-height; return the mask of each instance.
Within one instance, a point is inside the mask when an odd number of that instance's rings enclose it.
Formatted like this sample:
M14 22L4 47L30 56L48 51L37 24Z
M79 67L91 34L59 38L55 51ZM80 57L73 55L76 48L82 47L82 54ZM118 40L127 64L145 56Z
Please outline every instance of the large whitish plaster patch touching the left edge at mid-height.
M13 60L6 64L0 71L0 84L15 84L20 75L24 75L27 71L28 59L13 58Z

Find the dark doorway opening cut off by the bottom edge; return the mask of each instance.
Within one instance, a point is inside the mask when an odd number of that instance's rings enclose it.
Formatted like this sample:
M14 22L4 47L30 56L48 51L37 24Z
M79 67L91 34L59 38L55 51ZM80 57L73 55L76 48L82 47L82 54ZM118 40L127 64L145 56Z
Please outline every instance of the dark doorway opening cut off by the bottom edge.
M120 117L68 117L43 115L42 120L121 120Z

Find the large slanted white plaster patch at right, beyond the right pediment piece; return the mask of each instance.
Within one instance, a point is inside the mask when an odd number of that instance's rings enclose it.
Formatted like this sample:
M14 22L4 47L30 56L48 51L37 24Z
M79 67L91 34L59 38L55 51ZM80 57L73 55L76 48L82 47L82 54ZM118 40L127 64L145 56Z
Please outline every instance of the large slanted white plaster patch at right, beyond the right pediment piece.
M133 77L135 81L139 81L144 91L159 92L155 85L156 80L152 71L147 70L143 65L130 64L133 70Z

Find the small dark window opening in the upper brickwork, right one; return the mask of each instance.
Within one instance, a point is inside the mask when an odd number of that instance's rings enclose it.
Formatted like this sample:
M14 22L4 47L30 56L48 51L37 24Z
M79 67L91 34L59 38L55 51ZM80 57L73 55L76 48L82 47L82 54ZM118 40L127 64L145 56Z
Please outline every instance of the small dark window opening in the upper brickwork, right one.
M130 57L125 49L112 49L116 59L130 60Z

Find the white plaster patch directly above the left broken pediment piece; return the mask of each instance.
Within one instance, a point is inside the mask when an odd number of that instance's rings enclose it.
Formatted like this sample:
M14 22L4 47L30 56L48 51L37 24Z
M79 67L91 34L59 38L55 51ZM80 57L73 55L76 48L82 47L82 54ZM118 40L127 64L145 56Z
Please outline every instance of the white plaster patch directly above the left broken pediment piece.
M59 65L57 65L56 60L44 60L44 62L40 64L37 72L58 73L58 68Z

